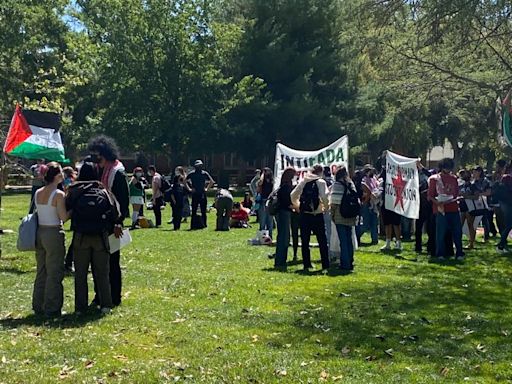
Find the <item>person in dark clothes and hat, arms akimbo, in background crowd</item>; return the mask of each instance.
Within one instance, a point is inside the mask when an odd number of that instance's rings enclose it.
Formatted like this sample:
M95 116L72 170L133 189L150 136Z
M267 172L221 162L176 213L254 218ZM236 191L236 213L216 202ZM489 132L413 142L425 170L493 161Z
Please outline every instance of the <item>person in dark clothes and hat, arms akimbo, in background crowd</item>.
M206 192L215 183L208 172L203 170L203 161L194 162L194 171L187 176L187 183L192 189L192 219L190 229L199 229L197 219L197 208L201 208L201 227L206 228Z

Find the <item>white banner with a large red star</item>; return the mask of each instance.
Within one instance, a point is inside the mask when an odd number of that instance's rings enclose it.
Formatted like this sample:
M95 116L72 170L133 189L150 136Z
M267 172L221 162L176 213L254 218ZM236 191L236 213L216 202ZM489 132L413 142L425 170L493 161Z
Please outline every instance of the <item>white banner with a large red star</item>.
M420 215L417 161L390 151L386 154L385 207L410 219L417 219Z

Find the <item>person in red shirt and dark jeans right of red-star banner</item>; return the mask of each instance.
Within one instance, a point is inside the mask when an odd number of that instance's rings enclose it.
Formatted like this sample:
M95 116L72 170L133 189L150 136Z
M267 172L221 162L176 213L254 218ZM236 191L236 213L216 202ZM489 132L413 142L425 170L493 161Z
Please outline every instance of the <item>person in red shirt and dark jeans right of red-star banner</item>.
M453 159L445 158L440 161L441 172L431 176L428 180L428 199L432 202L436 221L436 256L444 260L448 255L445 238L451 233L455 244L455 258L464 259L462 250L462 225L459 214L459 184L453 175Z

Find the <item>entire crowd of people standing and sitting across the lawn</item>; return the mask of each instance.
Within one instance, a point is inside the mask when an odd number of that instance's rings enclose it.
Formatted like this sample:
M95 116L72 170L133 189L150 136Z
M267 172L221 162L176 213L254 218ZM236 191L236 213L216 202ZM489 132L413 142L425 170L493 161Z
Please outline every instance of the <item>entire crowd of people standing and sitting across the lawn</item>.
M169 203L169 224L178 231L190 217L190 229L207 228L207 192L215 181L196 160L194 169L175 168L172 177L163 176L155 166L133 169L127 177L115 142L106 136L93 138L88 156L78 169L64 169L57 163L38 161L32 167L33 197L30 210L36 210L39 230L36 244L37 273L33 292L33 310L47 316L59 315L63 305L62 280L65 270L75 275L75 310L90 308L109 313L121 304L122 276L120 251L110 252L109 236L123 236L125 219L130 229L148 226L144 211L152 210L154 226L162 225L162 208ZM352 175L344 166L315 165L299 179L292 167L284 170L275 188L270 168L257 170L249 191L236 202L229 186L215 190L212 207L216 211L217 231L249 228L250 215L256 216L259 231L274 238L277 223L274 267L284 271L288 265L290 240L293 260L298 258L299 238L305 271L313 268L310 240L318 242L322 270L330 268L330 246L335 238L340 248L339 268L354 269L354 251L365 245L361 239L369 233L370 243L384 237L383 252L400 252L402 241L412 240L415 251L423 250L427 234L427 253L437 260L455 256L463 260L465 251L474 249L477 226L481 222L484 240L500 236L497 250L508 252L507 237L512 230L512 162L499 160L493 172L482 167L454 173L452 159L443 159L437 169L427 170L417 163L420 180L419 218L402 217L384 204L385 166L366 165ZM147 176L147 179L146 179ZM222 188L221 188L222 187ZM151 198L146 190L151 188ZM129 207L131 206L131 216ZM71 219L73 238L65 249L62 225ZM468 244L462 243L467 226ZM454 250L455 248L455 250ZM74 268L73 268L74 265ZM87 273L92 269L95 298L88 304Z

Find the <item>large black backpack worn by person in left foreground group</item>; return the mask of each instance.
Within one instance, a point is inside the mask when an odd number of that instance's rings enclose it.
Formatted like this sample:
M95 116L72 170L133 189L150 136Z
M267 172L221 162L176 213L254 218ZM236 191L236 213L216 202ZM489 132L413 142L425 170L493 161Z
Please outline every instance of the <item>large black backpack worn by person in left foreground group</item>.
M95 183L77 188L78 196L72 206L72 229L87 235L110 232L120 217L115 197Z

